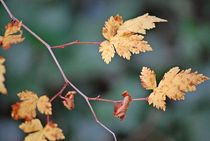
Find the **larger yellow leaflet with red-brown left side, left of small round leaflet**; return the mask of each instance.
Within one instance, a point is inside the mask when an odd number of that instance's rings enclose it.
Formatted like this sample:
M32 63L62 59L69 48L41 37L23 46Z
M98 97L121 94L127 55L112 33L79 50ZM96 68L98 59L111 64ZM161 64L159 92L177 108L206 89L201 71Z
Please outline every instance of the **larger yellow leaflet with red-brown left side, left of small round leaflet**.
M12 105L12 118L32 120L36 117L37 94L31 91L18 93L21 102Z

